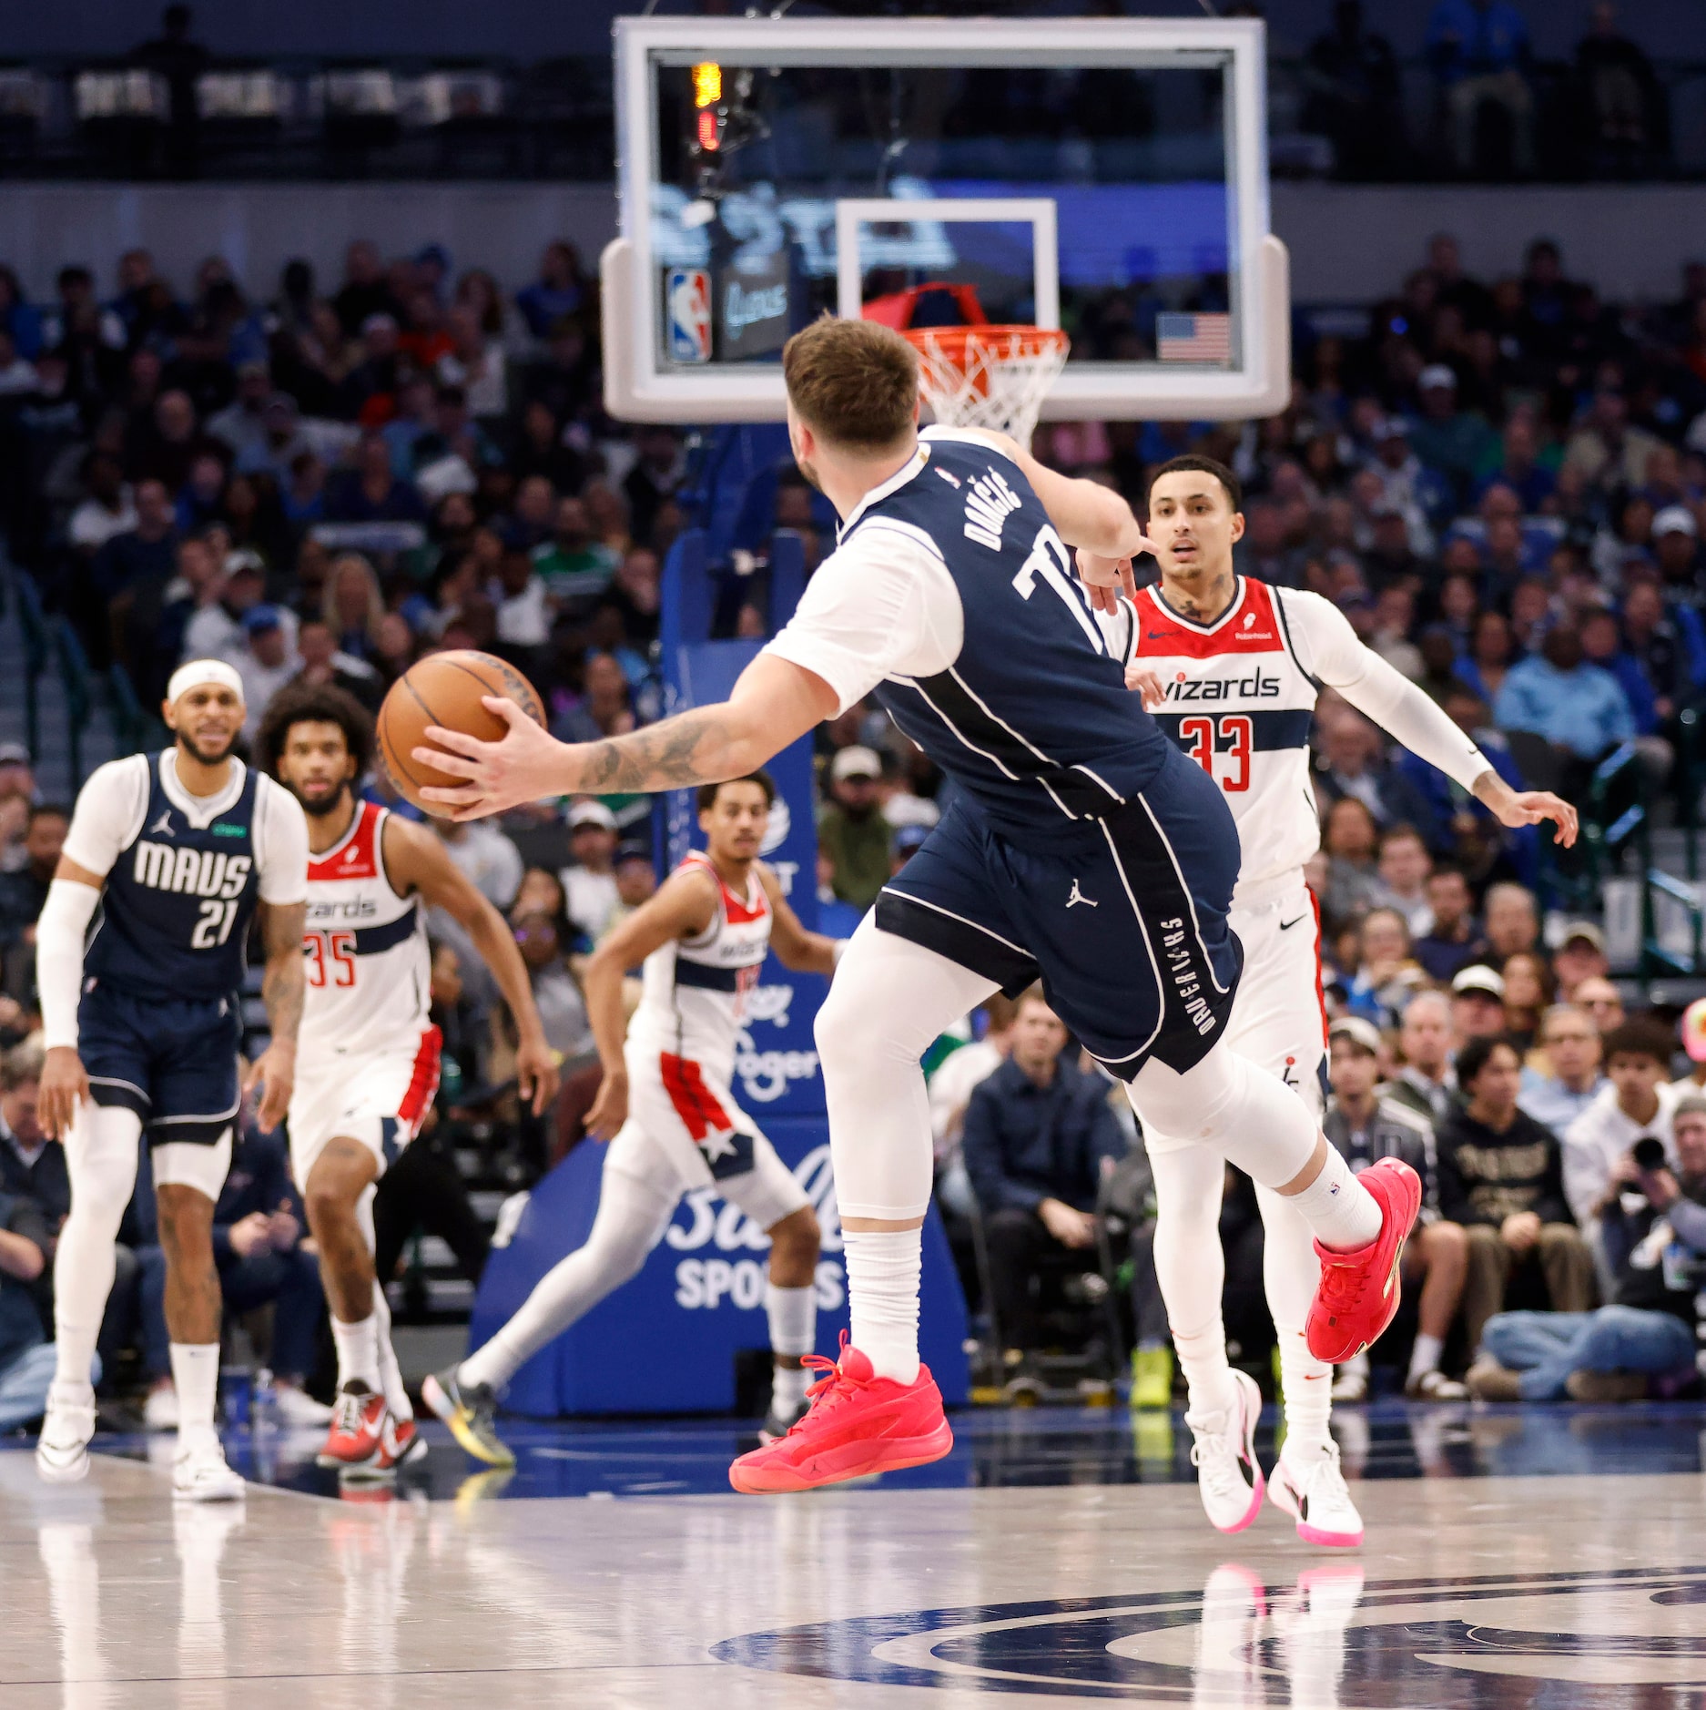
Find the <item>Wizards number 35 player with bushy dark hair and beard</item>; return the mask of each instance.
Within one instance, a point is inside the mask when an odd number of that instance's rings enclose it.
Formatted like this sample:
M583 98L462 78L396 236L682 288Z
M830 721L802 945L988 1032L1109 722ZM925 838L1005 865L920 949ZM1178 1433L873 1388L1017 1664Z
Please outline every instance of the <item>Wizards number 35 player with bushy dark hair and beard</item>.
M308 816L308 999L289 1122L291 1173L320 1243L338 1354L320 1464L388 1477L426 1447L373 1272L373 1197L438 1091L427 908L450 913L492 970L516 1019L516 1079L535 1113L556 1094L557 1069L504 918L431 831L356 799L373 758L368 713L342 689L287 687L267 708L256 752Z

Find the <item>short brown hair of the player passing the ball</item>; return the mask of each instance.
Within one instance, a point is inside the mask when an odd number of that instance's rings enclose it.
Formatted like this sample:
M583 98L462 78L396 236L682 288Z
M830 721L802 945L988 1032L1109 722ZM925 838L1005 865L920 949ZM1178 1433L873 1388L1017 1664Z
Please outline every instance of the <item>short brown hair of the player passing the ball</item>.
M918 410L918 354L877 321L824 315L781 347L781 373L800 419L831 445L885 451Z

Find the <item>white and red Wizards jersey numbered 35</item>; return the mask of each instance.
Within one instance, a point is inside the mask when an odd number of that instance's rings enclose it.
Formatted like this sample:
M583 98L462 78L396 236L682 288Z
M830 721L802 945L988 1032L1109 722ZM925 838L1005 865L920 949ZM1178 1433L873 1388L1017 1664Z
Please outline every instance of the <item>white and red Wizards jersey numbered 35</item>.
M386 877L386 817L390 809L357 802L349 831L308 862L304 1065L412 1050L431 1026L426 918Z

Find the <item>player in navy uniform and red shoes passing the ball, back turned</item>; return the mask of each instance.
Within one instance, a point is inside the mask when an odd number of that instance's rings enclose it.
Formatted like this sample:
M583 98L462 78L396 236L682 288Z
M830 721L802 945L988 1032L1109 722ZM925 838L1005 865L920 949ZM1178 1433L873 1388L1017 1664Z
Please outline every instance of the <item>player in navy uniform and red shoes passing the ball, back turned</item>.
M920 434L913 347L874 321L819 321L788 342L783 373L795 462L843 528L732 698L579 746L491 699L511 727L503 742L432 727L417 751L468 780L429 793L474 817L571 790L740 776L875 693L959 787L860 923L817 1016L851 1346L810 1412L730 1481L805 1489L952 1447L918 1363L932 1187L920 1058L993 992L1036 978L1145 1122L1292 1200L1327 1255L1309 1342L1349 1358L1397 1310L1421 1183L1403 1165L1354 1176L1299 1100L1221 1047L1239 971L1238 831L1221 788L1127 691L1068 551L1089 554L1087 581L1130 588L1130 559L1149 551L1130 508L1003 434Z

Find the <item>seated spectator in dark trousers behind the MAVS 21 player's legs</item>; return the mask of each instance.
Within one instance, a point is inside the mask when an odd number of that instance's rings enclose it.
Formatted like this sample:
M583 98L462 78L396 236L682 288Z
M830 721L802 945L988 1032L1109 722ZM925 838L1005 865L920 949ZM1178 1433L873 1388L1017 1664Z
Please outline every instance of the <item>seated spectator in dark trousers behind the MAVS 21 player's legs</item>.
M152 1178L147 1182L152 1197ZM214 1207L214 1264L226 1310L272 1306L268 1363L277 1382L279 1418L292 1426L323 1426L332 1409L303 1389L316 1363L315 1342L325 1313L320 1260L309 1241L303 1202L291 1183L282 1134L243 1123L231 1170ZM178 1426L166 1330L166 1253L138 1252L142 1264L144 1371L152 1380L144 1404L150 1431Z

